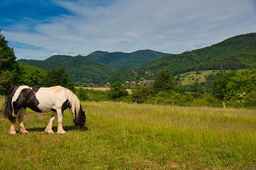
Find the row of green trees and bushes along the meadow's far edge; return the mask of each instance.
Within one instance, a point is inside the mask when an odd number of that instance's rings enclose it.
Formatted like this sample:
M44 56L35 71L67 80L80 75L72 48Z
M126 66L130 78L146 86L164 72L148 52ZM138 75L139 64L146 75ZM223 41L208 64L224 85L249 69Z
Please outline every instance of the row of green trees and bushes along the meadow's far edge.
M162 71L152 85L138 86L128 94L121 83L112 84L110 91L77 90L78 97L86 101L126 101L135 103L175 104L178 106L221 107L223 101L232 107L256 106L256 69L211 74L206 83L196 81L181 86Z

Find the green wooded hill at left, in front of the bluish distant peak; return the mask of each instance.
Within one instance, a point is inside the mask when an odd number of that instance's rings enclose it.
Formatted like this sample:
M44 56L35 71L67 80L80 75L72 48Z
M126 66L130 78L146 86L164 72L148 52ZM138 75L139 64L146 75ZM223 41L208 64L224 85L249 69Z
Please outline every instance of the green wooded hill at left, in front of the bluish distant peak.
M73 81L86 84L105 84L116 71L110 67L98 64L87 57L55 55L46 60L18 60L22 64L33 65L41 69L64 67Z

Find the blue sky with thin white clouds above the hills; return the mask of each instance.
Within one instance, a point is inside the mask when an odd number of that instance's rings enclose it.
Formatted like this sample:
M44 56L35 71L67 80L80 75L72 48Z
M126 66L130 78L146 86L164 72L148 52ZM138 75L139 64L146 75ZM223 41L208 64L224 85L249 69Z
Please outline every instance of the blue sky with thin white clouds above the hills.
M18 59L95 50L181 53L256 32L255 0L0 0Z

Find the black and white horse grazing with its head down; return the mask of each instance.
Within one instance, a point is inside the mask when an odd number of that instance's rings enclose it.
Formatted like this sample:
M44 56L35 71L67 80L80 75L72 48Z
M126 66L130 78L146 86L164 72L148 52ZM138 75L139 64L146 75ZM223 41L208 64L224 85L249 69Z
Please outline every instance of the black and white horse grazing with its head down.
M14 123L18 115L19 130L21 133L28 132L23 125L23 117L26 108L42 113L53 111L53 114L46 126L46 133L53 133L52 125L55 116L58 115L58 134L64 134L63 130L63 111L67 108L74 113L74 123L77 128L84 128L85 111L82 111L80 101L75 94L63 86L52 87L30 87L30 86L13 86L9 95L6 97L4 115L11 121L9 133L16 134Z

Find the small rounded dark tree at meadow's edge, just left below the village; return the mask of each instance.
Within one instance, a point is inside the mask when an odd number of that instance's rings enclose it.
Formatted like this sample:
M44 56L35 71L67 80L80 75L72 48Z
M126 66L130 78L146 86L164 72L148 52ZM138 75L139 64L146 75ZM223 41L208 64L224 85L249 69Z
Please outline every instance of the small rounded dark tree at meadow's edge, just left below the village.
M117 100L119 98L128 96L128 92L125 90L124 86L122 86L122 84L117 81L110 87L110 92L108 96L110 99Z

